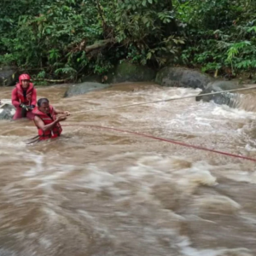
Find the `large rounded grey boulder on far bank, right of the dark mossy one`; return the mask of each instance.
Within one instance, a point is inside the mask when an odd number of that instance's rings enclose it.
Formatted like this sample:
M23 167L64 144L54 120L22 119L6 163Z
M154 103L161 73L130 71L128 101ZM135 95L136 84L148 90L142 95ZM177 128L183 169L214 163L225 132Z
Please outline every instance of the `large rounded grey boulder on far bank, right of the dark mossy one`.
M191 87L204 89L212 78L194 69L184 67L164 67L157 75L157 84L169 87Z

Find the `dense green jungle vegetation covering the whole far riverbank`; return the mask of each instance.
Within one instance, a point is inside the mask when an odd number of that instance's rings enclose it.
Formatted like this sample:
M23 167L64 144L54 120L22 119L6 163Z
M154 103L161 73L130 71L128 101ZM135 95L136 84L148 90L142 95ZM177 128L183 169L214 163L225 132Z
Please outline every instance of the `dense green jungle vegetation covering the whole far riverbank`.
M0 64L38 79L119 61L222 75L256 67L254 0L1 0Z

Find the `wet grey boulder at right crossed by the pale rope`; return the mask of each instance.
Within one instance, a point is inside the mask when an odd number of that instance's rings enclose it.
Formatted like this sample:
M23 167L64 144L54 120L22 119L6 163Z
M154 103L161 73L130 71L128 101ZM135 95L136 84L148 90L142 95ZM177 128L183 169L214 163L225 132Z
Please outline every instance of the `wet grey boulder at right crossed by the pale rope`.
M216 95L201 96L202 94L211 93L215 91L234 90L244 88L242 84L233 83L230 81L214 81L207 84L207 87L201 91L201 93L195 97L197 102L210 102L213 101L219 105L228 105L230 107L236 107L237 93L224 92Z

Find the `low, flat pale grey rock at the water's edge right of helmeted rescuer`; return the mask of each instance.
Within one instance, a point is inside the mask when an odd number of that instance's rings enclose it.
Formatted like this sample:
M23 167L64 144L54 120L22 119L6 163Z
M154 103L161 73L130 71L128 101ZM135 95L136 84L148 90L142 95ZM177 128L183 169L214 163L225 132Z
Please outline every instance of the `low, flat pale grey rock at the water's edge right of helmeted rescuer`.
M100 84L93 82L84 82L82 84L74 84L70 86L65 92L64 97L76 96L88 93L92 90L102 90L104 88L108 88L109 84Z

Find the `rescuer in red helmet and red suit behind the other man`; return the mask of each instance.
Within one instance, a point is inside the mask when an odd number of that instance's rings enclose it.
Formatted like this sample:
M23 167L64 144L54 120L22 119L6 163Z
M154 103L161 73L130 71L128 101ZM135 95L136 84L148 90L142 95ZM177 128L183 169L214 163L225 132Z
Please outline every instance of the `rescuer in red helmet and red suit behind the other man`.
M28 118L33 119L34 115L32 109L37 104L37 90L34 85L30 83L30 76L23 73L19 77L19 84L15 85L12 91L12 104L16 108L15 116L13 119Z

